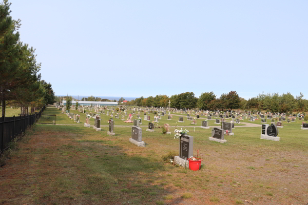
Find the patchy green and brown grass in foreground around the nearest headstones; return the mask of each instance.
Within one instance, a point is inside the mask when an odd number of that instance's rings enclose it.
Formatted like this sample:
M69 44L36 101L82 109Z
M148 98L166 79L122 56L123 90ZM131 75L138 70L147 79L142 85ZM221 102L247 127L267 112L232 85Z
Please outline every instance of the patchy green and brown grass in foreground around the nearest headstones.
M73 124L59 110L48 112L57 114L57 124ZM173 125L177 119L164 123ZM211 131L199 128L202 119L197 123L186 129L194 136L194 154L202 154L199 171L170 164L167 155L178 155L179 140L161 129L146 132L142 127L146 147L137 147L129 142L132 124L125 122L129 127L114 127L115 136L107 135L107 127L82 127L83 121L82 126L35 125L0 168L0 203L308 203L308 133L300 130L301 121L285 122L280 141L260 139L260 127L237 127L234 136L225 136L226 144L209 141Z

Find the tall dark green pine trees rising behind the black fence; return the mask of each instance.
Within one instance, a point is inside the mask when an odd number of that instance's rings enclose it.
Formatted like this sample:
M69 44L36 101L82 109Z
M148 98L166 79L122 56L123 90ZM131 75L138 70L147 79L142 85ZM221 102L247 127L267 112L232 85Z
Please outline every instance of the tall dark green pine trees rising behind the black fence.
M38 73L41 63L36 62L35 49L21 42L18 29L21 20L10 16L11 3L0 5L0 100L2 115L6 106L20 107L22 114L54 103L51 84Z

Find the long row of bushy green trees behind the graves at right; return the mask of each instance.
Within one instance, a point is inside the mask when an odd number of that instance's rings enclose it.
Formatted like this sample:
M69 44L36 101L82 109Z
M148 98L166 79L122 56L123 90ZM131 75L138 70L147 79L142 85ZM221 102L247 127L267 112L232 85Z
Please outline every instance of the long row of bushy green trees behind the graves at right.
M308 111L308 100L303 99L303 94L294 97L290 92L279 95L279 93L259 94L248 100L240 97L236 91L223 93L217 97L214 92L201 93L199 98L195 97L193 92L185 92L181 94L156 95L147 98L140 97L128 101L130 106L146 106L146 107L170 107L177 109L202 109L202 110L266 110L271 112L293 112Z

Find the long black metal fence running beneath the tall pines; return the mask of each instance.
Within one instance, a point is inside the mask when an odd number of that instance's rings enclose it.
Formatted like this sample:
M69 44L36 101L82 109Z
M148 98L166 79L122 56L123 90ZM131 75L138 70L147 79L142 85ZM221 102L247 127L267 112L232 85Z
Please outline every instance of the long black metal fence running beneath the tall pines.
M10 141L14 140L16 136L22 134L26 129L33 125L44 111L42 110L35 114L19 114L18 117L0 117L0 153L8 148Z

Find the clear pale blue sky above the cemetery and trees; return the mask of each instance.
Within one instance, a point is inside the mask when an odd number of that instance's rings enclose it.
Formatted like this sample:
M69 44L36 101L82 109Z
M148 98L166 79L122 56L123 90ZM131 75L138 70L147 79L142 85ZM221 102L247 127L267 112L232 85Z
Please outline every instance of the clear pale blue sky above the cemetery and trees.
M11 0L56 95L308 98L308 1Z

